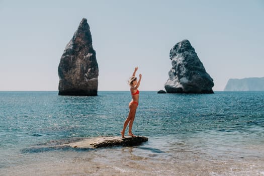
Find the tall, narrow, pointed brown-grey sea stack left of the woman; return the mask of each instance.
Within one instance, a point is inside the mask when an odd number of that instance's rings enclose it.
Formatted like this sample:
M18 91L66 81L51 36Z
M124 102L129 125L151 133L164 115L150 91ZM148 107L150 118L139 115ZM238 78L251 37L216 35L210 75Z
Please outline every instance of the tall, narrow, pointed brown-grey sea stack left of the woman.
M97 96L98 73L90 26L83 18L60 59L59 95Z

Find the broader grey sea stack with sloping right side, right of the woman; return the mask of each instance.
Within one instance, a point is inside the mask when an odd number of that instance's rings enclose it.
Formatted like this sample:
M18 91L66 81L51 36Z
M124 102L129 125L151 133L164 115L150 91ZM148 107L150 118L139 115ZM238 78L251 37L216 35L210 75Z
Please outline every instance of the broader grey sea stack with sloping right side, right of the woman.
M172 68L165 83L167 93L213 94L213 79L206 72L188 40L173 46L169 53Z

